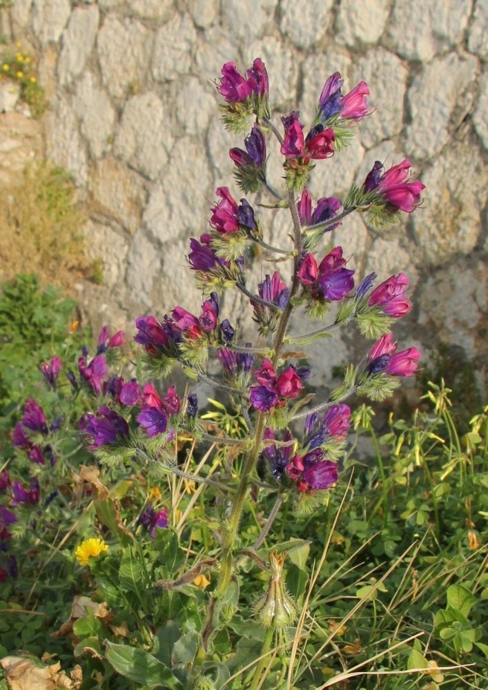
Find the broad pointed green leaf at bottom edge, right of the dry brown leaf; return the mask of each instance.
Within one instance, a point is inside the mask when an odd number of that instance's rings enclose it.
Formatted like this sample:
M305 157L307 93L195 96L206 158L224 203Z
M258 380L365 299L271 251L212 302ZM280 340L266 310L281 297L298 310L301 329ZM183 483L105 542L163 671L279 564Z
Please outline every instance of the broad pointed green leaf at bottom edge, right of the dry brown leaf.
M143 685L162 685L170 690L183 690L181 682L155 656L127 644L105 641L106 659L124 678Z

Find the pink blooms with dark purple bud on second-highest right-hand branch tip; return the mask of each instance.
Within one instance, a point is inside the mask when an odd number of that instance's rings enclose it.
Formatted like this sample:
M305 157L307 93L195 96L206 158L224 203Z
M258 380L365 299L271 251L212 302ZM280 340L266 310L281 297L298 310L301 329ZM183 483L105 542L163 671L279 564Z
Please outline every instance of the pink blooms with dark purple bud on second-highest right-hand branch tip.
M420 203L420 193L425 185L415 180L409 182L411 162L405 158L397 166L393 166L382 174L383 165L375 161L373 168L364 180L363 189L366 192L375 190L384 201L406 213L412 213Z

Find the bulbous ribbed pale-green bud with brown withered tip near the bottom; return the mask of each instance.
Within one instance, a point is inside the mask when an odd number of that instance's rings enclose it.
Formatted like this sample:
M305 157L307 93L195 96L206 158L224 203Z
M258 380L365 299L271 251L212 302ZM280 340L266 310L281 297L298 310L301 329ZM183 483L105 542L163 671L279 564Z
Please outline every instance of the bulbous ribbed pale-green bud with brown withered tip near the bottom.
M284 559L284 553L273 551L269 554L271 580L268 591L255 604L257 618L268 628L284 628L291 625L297 616L295 602L286 592L282 580Z

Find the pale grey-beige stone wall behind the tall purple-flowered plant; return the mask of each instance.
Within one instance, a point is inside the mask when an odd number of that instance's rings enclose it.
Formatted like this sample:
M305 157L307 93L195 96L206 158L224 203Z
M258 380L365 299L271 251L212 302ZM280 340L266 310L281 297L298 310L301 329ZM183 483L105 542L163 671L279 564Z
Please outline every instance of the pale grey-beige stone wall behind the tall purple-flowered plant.
M188 237L208 227L217 186L239 196L228 148L241 140L219 123L211 79L224 61L244 69L259 56L276 119L298 104L310 121L335 70L346 86L369 83L374 115L343 154L318 161L311 191L343 195L375 159L408 155L427 186L423 206L380 233L348 219L335 242L361 276L409 274L415 307L399 329L409 344L444 341L486 361L485 0L14 0L0 11L1 31L40 57L47 155L88 201L88 251L103 257L105 284L78 288L96 324L199 303ZM286 241L286 219L264 213L269 237ZM226 308L246 324L242 300ZM353 339L320 342L315 384Z

